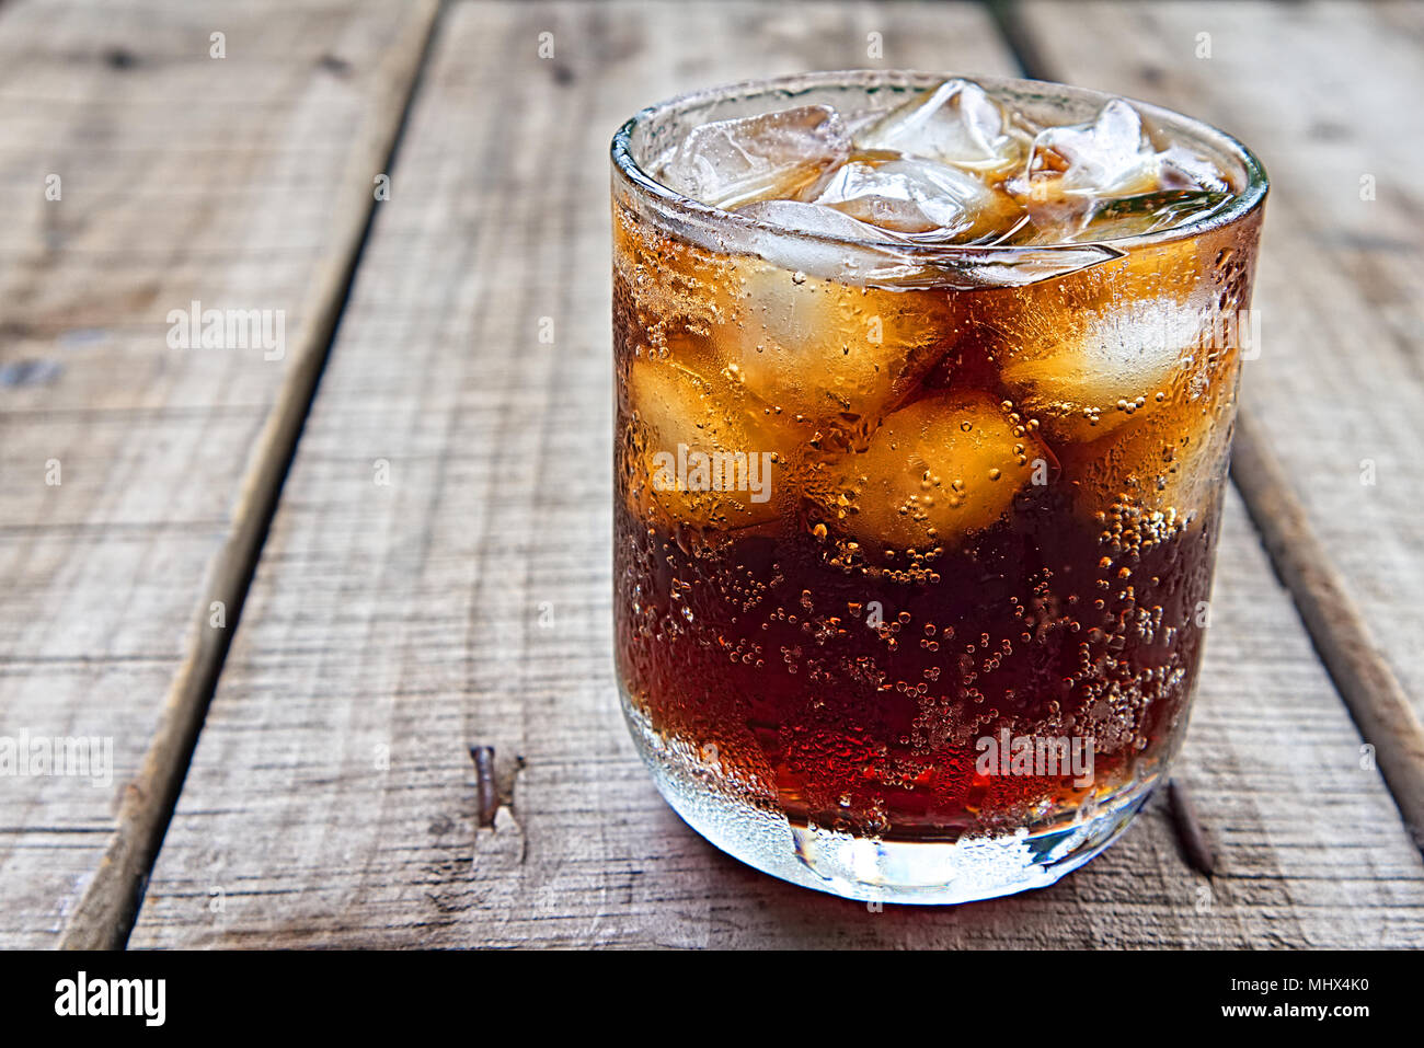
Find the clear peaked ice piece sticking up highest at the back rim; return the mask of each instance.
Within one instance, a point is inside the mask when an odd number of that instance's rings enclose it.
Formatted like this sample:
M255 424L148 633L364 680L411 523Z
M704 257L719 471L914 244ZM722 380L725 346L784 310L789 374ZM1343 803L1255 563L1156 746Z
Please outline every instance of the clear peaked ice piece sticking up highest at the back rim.
M1027 145L1004 107L967 80L947 80L911 98L860 132L856 142L984 175L1002 175L1017 167Z

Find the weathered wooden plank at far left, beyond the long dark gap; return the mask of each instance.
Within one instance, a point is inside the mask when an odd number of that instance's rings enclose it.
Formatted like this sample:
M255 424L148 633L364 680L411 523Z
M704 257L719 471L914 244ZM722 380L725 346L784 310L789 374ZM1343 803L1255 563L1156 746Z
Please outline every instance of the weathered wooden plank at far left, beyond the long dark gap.
M147 869L431 17L0 7L0 735L112 746L0 779L0 945ZM172 347L194 300L281 346Z

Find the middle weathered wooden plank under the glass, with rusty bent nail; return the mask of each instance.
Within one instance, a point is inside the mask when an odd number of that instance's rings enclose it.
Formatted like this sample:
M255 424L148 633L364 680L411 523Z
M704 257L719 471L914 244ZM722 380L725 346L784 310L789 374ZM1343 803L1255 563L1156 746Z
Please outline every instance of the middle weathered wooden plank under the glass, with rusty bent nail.
M870 31L1011 68L968 7L450 9L131 945L1424 943L1424 864L1235 497L1179 766L1212 879L1158 800L1052 889L870 913L655 793L609 658L607 142Z

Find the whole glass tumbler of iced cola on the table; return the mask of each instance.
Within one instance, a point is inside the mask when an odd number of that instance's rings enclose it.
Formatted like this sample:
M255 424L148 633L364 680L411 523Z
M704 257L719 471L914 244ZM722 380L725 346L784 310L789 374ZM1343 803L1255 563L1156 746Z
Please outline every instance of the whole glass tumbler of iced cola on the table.
M684 819L917 903L1122 830L1186 728L1265 195L1223 132L1030 81L618 132L617 665Z

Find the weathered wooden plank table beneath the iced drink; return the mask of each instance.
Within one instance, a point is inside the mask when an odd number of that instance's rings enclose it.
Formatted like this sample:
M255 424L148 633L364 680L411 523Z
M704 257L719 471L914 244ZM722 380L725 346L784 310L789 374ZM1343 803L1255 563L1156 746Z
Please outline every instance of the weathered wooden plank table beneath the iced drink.
M1421 56L1411 3L0 4L0 735L114 748L0 777L0 945L1424 944ZM863 66L1274 184L1195 819L956 908L715 852L609 661L611 132ZM281 353L171 346L192 302Z

